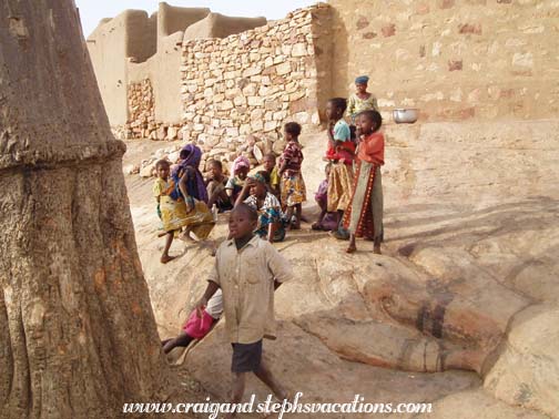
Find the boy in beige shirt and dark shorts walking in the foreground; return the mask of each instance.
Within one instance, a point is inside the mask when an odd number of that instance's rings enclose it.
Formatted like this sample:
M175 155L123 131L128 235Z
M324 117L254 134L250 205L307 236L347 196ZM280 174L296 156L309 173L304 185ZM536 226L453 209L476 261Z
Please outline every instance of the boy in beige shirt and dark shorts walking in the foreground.
M231 238L220 245L206 290L196 305L202 315L209 299L222 289L225 328L233 346L233 403L243 398L247 372L254 372L280 400L287 398L262 359L262 340L275 339L274 289L292 279L293 270L273 245L253 234L256 223L256 212L246 204L237 204L231 212Z

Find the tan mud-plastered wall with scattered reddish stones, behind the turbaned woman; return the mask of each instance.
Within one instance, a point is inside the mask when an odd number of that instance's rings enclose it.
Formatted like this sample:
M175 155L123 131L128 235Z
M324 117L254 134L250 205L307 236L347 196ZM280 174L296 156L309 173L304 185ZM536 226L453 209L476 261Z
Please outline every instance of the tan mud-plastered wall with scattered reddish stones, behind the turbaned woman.
M382 110L421 121L559 113L559 3L551 0L329 0L333 93L368 74Z

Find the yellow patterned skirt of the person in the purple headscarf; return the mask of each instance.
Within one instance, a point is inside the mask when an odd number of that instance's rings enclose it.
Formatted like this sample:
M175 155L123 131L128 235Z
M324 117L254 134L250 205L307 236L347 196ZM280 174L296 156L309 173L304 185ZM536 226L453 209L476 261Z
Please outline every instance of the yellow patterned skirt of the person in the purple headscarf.
M183 198L175 201L170 196L161 196L160 208L163 229L167 233L185 227L199 239L205 239L215 225L212 213L202 201L194 200L194 209L187 213Z

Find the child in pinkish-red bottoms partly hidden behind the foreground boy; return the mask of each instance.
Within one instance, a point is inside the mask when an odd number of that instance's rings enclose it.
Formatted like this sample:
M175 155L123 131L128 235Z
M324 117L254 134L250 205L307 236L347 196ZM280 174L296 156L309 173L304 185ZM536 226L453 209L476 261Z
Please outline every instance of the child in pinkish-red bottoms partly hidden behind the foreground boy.
M212 330L222 314L223 295L221 289L217 289L207 302L207 306L202 309L200 317L197 310L193 310L179 336L161 343L163 345L163 351L169 354L176 347L187 347L194 339L202 339Z

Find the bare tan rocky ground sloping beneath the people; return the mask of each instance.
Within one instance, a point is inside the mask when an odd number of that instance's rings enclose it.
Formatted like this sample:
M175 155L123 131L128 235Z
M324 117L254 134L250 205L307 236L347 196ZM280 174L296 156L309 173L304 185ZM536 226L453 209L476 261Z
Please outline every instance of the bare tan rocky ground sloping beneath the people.
M388 125L384 254L358 242L346 255L346 243L308 224L276 245L297 273L276 294L278 339L265 344L286 387L304 401L431 401L429 418L559 417L557 125ZM324 134L302 141L312 198ZM169 143L126 145L124 166ZM177 241L171 254L180 257L161 265L152 181L126 183L155 318L169 337L201 296L212 257L207 246ZM316 215L312 200L304 211ZM225 234L221 217L211 237ZM226 399L230 357L220 324L176 371L201 395ZM253 379L247 390L266 395Z

